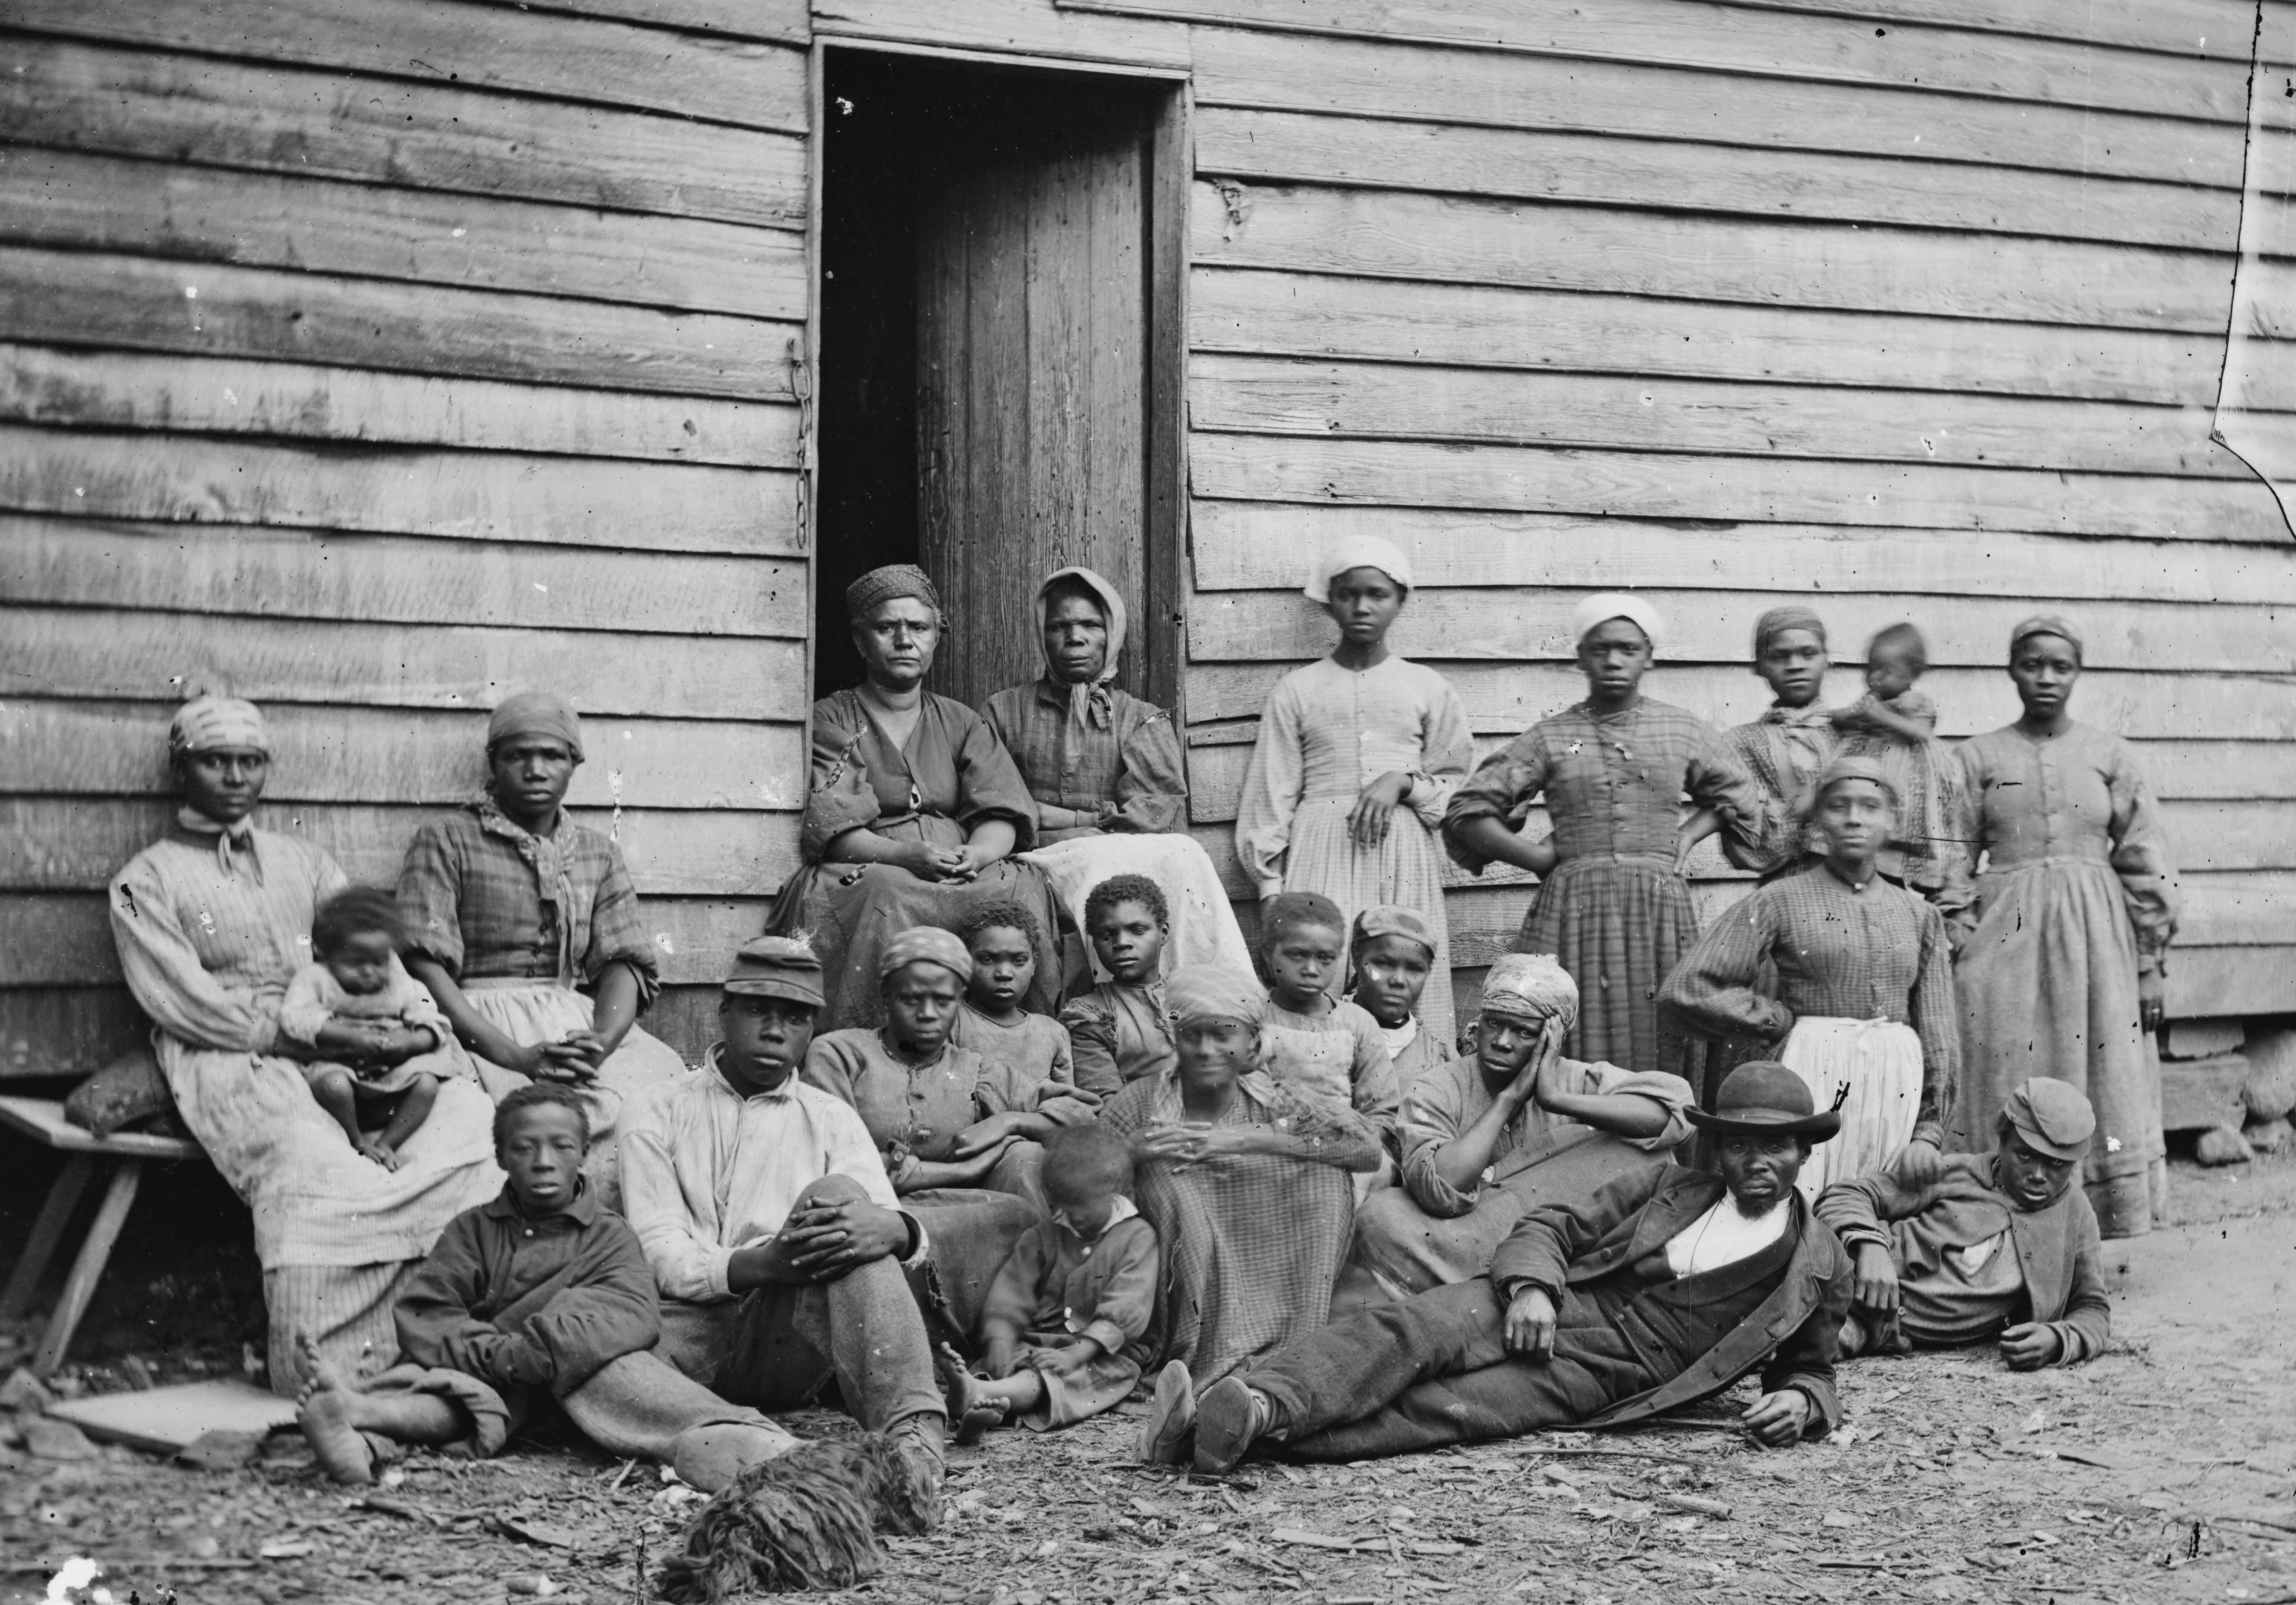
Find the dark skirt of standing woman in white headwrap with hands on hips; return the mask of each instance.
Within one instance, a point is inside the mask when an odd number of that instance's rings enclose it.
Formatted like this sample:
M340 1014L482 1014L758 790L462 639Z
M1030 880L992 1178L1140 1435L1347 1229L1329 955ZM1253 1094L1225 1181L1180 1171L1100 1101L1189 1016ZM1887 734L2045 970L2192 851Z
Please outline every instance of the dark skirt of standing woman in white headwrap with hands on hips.
M1671 859L1564 859L1538 886L1515 953L1552 953L1580 987L1564 1054L1649 1075L1685 1072L1688 1040L1658 1019L1658 987L1699 939Z

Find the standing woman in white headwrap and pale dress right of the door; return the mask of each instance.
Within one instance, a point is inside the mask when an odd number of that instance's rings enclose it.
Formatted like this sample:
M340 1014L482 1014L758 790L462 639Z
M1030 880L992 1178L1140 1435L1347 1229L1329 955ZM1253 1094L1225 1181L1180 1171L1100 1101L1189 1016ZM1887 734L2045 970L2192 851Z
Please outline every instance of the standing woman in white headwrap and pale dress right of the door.
M1419 1019L1449 1042L1458 1024L1435 829L1474 749L1451 682L1387 650L1410 590L1410 558L1378 535L1318 556L1306 597L1339 625L1339 645L1283 675L1261 712L1235 854L1263 902L1283 891L1336 902L1341 935L1382 902L1419 909L1435 932Z

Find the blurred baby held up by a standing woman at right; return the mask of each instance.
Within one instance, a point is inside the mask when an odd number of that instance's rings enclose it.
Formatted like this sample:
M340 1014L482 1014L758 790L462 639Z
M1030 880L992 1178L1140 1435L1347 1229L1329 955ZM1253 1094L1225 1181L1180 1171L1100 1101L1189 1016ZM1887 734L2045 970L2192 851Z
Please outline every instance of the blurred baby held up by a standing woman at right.
M1890 625L1867 645L1867 693L1837 707L1832 719L1841 755L1880 758L1899 781L1896 836L1876 868L1954 914L1970 902L1961 765L1938 739L1938 705L1915 689L1924 673L1929 643L1922 631Z

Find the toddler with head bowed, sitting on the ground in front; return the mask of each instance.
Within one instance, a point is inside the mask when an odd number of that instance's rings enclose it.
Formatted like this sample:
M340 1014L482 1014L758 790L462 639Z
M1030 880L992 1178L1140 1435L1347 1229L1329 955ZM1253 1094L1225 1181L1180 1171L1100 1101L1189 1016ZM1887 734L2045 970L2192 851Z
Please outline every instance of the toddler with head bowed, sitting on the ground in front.
M941 1346L948 1426L969 1444L1019 1417L1075 1426L1141 1380L1155 1309L1155 1228L1132 1205L1132 1146L1104 1125L1054 1132L1045 1146L1049 1222L1031 1226L980 1311L980 1373Z

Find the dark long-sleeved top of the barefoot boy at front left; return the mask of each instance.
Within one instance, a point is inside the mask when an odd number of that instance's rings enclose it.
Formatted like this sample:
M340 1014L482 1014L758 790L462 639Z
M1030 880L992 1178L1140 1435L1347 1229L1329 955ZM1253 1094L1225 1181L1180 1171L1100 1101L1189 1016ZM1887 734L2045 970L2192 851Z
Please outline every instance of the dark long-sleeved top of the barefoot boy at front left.
M638 1233L588 1187L542 1219L510 1187L450 1219L393 1318L400 1355L420 1366L558 1396L661 1336Z

